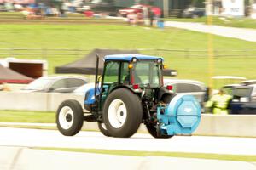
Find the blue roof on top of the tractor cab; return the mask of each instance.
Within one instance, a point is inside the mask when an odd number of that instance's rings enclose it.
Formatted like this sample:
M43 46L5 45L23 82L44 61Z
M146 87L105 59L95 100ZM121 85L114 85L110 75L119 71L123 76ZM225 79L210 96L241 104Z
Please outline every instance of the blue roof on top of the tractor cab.
M133 58L136 59L148 59L148 60L155 60L155 59L162 59L161 57L157 56L150 56L150 55L142 55L142 54L115 54L115 55L106 55L104 59L107 60L124 60L124 61L131 61Z

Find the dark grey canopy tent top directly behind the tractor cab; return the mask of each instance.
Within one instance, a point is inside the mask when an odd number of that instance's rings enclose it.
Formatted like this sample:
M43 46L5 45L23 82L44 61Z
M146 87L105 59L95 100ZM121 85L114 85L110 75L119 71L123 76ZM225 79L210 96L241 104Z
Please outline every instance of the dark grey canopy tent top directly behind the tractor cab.
M137 50L117 50L117 49L94 49L90 54L83 59L79 59L73 63L55 67L56 73L77 73L90 74L96 72L96 55L100 57L99 72L103 70L103 57L111 54L140 54Z

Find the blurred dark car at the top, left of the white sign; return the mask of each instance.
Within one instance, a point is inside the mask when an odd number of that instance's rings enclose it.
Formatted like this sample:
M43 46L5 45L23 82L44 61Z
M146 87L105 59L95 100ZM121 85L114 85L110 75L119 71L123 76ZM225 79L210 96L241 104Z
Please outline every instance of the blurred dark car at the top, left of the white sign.
M183 10L183 18L199 18L206 15L205 8L189 7Z

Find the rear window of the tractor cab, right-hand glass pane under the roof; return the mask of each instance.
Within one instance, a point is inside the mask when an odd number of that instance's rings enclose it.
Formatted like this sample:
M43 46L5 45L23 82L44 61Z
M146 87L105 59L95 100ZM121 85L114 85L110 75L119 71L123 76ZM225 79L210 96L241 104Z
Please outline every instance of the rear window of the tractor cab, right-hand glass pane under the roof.
M133 82L139 84L140 88L160 87L160 77L160 63L153 60L138 61L132 69Z

